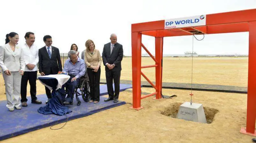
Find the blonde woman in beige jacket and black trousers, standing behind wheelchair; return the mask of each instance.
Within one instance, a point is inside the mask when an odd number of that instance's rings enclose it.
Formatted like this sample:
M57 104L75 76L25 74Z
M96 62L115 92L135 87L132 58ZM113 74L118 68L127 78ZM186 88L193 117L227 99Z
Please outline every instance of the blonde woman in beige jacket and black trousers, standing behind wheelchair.
M92 40L87 40L85 47L84 61L87 66L91 91L91 100L89 102L98 103L101 56L99 50L95 49L95 44Z

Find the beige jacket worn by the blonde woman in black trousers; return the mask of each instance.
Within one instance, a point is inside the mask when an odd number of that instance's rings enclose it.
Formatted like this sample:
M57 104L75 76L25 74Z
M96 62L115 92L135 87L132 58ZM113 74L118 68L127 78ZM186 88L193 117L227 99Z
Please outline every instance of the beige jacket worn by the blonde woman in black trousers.
M101 64L101 56L99 53L99 50L94 49L93 53L91 54L90 51L84 51L84 61L88 68L91 68L90 66L100 66Z

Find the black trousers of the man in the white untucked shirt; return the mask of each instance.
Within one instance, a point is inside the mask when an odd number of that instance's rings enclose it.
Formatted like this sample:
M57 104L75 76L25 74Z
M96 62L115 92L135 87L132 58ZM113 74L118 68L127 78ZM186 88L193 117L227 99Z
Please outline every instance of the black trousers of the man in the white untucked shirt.
M30 85L30 95L31 100L36 100L36 78L37 78L37 71L25 71L24 75L21 77L21 87L20 87L20 94L21 94L21 102L27 102L27 81L29 81Z

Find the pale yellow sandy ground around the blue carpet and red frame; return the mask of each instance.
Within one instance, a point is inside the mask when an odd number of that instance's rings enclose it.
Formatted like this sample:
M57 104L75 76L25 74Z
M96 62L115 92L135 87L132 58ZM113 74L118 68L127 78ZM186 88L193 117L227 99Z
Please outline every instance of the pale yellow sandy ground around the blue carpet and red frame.
M143 65L152 63L153 60L143 58ZM121 79L131 80L131 58L124 58L122 67ZM247 85L248 58L195 58L194 67L194 83ZM143 71L153 80L152 69ZM102 69L101 78L104 75ZM164 58L163 76L163 82L191 82L191 59ZM6 100L2 76L0 88L0 100ZM154 89L142 88L142 92L154 92ZM44 87L37 82L37 94L43 93ZM144 108L136 111L129 108L132 92L120 92L120 100L125 101L125 105L71 120L60 130L46 127L2 142L251 142L252 136L239 133L246 124L246 94L194 91L195 103L218 110L211 124L161 114L175 103L189 101L189 93L188 90L163 89L164 95L177 97L161 100L148 97L142 100Z

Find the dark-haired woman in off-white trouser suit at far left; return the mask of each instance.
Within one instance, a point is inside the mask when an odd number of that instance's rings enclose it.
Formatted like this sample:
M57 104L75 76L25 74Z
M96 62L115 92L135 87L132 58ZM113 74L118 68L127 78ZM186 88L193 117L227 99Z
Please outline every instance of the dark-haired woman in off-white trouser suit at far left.
M5 45L0 46L0 66L4 72L6 107L9 111L14 111L14 108L21 109L20 84L25 69L25 58L22 48L17 45L18 41L18 34L11 32L6 35Z

